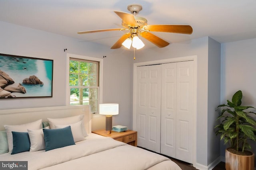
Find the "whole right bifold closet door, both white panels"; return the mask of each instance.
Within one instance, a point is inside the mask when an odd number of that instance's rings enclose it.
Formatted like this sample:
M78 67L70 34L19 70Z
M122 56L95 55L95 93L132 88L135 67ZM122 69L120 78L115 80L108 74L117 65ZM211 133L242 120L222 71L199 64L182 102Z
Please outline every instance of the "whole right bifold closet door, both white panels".
M161 153L193 162L193 61L162 64Z

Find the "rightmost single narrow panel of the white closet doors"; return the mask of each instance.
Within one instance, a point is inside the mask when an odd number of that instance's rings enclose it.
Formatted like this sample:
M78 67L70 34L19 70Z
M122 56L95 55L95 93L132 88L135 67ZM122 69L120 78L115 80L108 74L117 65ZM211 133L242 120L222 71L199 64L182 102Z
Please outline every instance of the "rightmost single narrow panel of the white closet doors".
M193 61L177 63L176 158L193 163Z

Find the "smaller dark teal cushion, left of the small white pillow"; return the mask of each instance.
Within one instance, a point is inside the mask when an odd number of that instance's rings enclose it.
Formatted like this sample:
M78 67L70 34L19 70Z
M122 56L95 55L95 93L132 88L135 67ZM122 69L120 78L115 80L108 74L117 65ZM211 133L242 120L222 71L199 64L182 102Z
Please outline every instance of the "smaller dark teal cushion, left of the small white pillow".
M30 150L30 140L28 132L12 131L13 149L11 154L26 152Z

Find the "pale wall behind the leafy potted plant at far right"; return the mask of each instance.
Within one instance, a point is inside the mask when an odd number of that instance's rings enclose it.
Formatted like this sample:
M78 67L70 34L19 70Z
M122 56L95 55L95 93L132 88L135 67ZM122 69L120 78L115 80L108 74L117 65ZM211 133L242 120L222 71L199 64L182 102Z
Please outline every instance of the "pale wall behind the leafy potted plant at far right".
M222 44L221 60L221 104L242 90L242 105L256 107L256 39ZM225 148L222 143L221 156ZM255 142L252 148L256 154Z

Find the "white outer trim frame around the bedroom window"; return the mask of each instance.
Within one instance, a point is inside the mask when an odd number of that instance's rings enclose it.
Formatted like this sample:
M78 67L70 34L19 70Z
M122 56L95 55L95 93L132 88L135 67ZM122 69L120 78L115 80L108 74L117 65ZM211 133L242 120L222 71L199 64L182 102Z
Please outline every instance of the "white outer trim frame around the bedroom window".
M76 54L69 54L67 53L67 63L66 63L66 106L70 105L70 89L69 89L69 62L70 58L74 59L82 59L82 60L90 60L90 61L97 61L99 62L99 99L97 102L98 108L99 104L102 103L102 96L103 96L103 59L100 58L95 58L95 57L88 57L88 56L83 56L83 55L76 55Z

